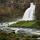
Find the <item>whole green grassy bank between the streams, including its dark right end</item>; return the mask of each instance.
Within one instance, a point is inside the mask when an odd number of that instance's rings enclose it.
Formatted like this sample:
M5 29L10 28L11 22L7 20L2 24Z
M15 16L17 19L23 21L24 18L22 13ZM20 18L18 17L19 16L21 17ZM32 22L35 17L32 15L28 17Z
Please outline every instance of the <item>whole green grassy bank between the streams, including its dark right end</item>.
M16 24L12 24L9 27L28 27L40 29L40 20L36 21L19 21Z

